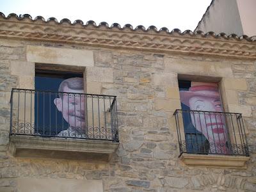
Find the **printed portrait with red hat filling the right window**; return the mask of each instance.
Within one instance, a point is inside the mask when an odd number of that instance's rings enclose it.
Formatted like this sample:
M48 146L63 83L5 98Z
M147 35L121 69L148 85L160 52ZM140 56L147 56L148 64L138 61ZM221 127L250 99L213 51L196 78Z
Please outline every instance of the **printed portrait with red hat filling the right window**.
M228 131L217 83L191 82L180 87L186 146L198 153L228 154Z

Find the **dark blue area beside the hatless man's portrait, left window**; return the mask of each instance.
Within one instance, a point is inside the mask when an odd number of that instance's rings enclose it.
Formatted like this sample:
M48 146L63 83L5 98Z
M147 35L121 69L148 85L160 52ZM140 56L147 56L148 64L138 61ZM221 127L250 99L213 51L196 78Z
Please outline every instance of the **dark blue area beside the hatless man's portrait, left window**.
M83 73L36 70L35 90L53 91L35 92L35 132L38 134L54 136L68 128L67 122L54 104L54 99L59 97L55 92L58 92L61 81L71 77L83 77Z

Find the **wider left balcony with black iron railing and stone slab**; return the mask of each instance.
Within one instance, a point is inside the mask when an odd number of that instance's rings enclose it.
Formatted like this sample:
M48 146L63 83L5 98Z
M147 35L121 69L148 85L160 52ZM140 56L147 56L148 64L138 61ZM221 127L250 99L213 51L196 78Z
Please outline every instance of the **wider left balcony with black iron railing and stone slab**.
M116 96L13 89L10 103L13 156L109 161L118 148Z

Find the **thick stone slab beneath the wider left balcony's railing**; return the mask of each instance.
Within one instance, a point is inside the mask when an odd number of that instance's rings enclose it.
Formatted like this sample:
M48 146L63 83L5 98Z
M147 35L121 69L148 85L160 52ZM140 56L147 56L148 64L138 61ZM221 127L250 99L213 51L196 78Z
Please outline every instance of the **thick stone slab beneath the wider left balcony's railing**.
M119 143L74 138L11 135L9 152L15 157L109 161Z

